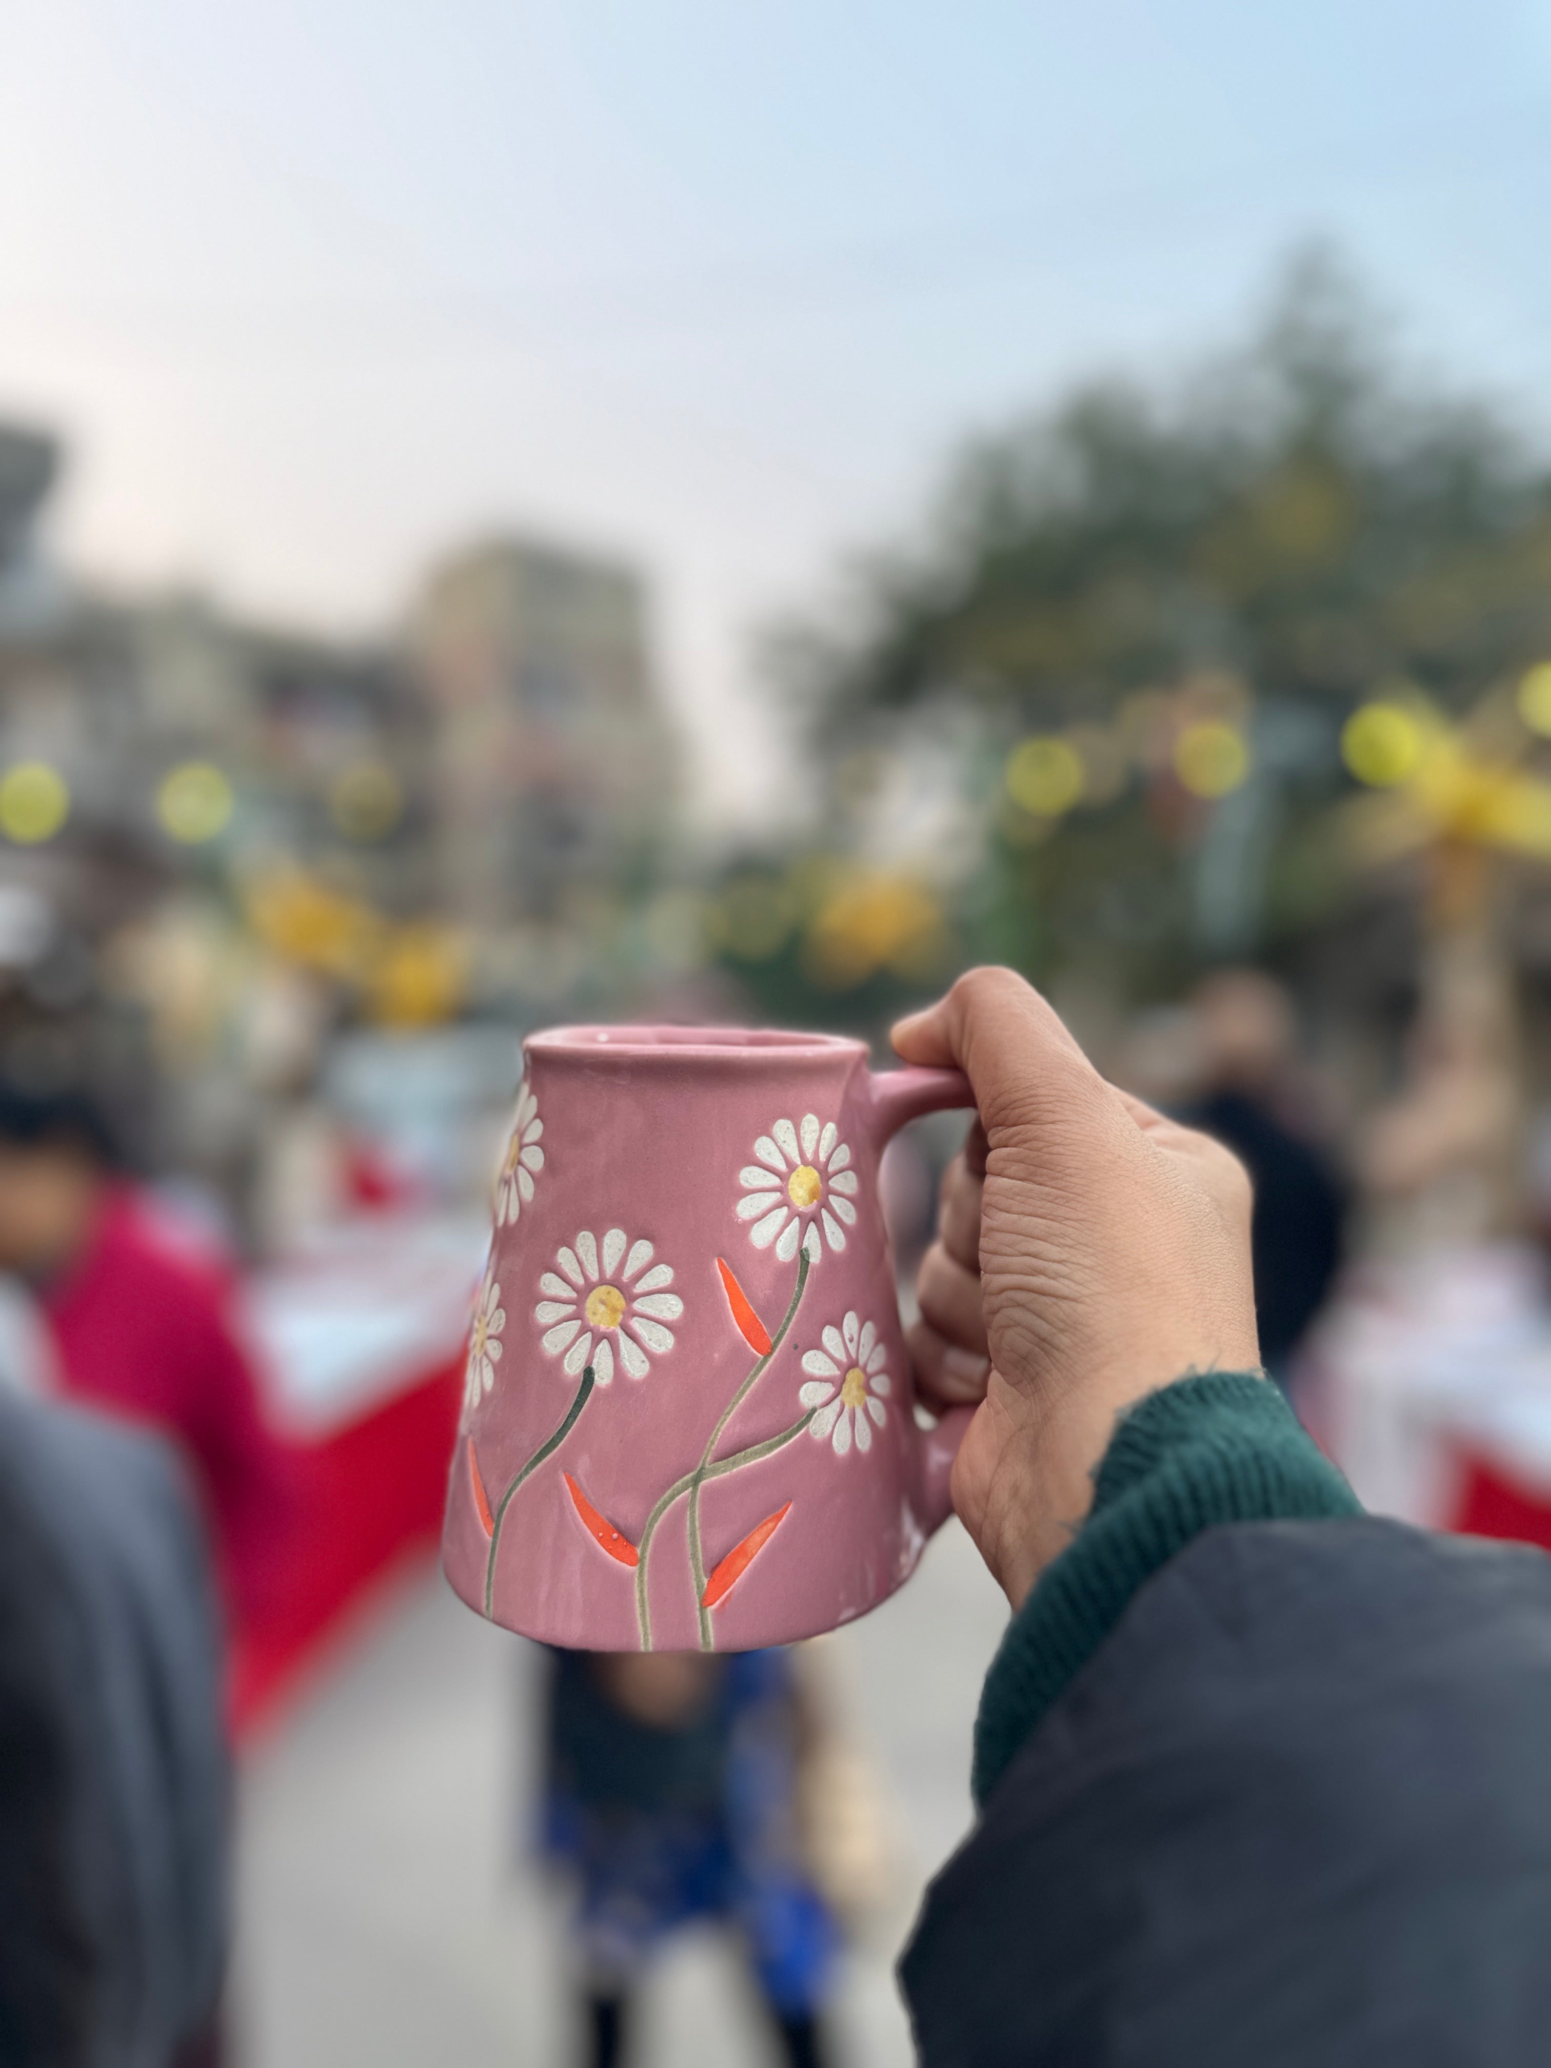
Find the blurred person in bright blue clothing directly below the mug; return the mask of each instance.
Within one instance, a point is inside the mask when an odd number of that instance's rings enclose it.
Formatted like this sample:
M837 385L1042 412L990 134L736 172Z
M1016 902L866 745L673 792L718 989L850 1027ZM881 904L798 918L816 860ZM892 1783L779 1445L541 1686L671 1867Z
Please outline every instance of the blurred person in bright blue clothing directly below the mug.
M827 2060L838 1927L802 1859L809 1733L788 1652L554 1652L542 1838L577 1884L591 2068L629 2060L653 1956L705 1919L742 1938L782 2060Z

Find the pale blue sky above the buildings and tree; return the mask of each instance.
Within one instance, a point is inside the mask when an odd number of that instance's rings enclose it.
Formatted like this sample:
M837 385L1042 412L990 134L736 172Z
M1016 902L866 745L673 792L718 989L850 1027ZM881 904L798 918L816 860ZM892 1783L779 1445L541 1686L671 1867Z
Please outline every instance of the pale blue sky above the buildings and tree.
M492 523L658 583L724 807L749 627L953 443L1338 240L1551 424L1551 0L12 0L0 412L58 542L323 625ZM747 769L749 765L749 769Z

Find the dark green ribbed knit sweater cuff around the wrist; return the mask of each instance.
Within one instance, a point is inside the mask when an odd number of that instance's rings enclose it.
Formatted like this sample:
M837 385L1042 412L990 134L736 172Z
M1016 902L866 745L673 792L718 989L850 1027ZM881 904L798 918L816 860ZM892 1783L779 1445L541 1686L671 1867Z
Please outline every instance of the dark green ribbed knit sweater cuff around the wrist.
M1160 1565L1214 1522L1355 1516L1361 1503L1270 1379L1208 1371L1139 1400L1094 1474L1094 1506L991 1661L974 1725L986 1801L1073 1675Z

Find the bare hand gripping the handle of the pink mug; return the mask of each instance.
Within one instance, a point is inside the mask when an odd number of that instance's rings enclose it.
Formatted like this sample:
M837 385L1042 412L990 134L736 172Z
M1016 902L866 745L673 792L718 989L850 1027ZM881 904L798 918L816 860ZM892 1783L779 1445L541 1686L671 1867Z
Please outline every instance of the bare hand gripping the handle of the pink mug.
M1249 1179L1106 1084L1011 970L970 970L893 1046L957 1065L978 1106L910 1355L929 1406L978 1402L953 1508L1015 1609L1086 1516L1117 1415L1191 1371L1259 1365Z

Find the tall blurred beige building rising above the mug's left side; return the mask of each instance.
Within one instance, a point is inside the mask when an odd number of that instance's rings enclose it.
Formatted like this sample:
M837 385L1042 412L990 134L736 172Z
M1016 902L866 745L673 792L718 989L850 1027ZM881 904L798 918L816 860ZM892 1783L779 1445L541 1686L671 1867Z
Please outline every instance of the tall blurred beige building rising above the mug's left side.
M527 540L443 562L407 645L432 718L443 904L488 926L550 922L641 879L676 757L635 573Z

